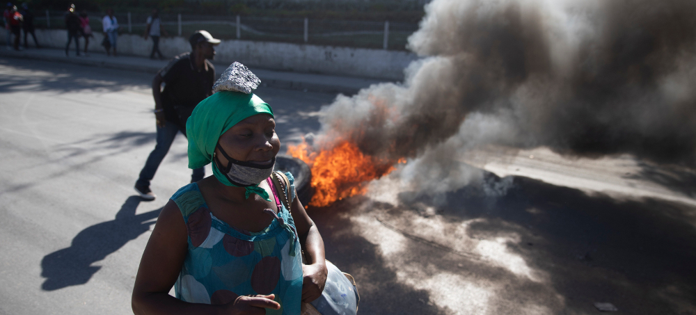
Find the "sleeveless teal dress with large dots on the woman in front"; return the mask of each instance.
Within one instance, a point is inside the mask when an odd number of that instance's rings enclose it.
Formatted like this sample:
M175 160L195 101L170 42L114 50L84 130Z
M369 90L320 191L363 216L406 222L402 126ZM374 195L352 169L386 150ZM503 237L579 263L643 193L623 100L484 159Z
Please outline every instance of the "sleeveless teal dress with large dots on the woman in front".
M292 175L288 177L292 184ZM180 188L171 197L184 216L189 234L184 266L174 286L176 298L225 304L239 296L274 293L280 309L266 309L266 314L300 314L299 238L290 211L281 204L271 180L267 182L279 211L264 210L274 220L258 233L235 229L213 216L195 183ZM285 190L286 195L294 193Z

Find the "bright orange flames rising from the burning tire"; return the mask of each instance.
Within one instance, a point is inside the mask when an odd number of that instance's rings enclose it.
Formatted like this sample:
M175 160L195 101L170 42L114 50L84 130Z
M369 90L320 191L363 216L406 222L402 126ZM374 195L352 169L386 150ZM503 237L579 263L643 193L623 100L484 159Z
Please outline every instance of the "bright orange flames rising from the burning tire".
M310 152L305 142L290 145L287 154L301 159L312 169L311 185L315 193L309 205L313 207L326 207L337 200L362 195L367 181L395 170L394 161L365 155L354 143L346 140L319 152ZM397 162L406 163L406 160L399 159Z

